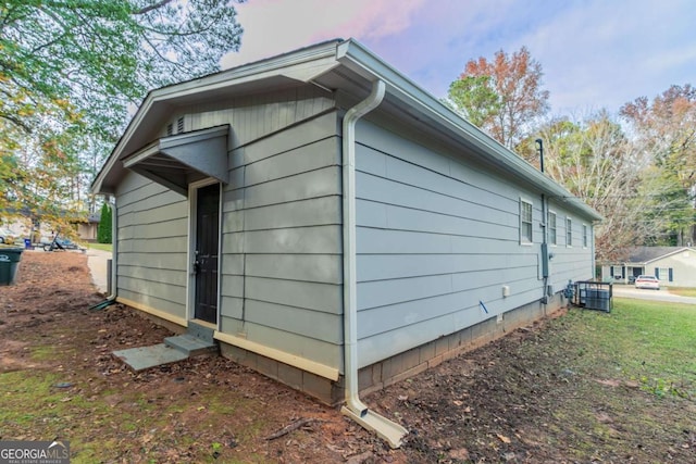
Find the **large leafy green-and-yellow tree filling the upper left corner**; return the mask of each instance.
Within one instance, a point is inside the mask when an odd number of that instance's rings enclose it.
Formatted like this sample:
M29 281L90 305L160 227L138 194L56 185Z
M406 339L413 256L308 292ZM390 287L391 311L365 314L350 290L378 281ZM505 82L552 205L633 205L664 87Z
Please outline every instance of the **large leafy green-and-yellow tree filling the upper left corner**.
M219 71L241 32L229 0L3 1L0 209L86 213L128 106Z

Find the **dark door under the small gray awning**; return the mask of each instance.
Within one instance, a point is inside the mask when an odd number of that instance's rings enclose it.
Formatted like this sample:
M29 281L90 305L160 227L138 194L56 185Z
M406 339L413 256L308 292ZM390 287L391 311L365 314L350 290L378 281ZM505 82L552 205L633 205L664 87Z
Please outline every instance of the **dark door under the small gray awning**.
M196 318L217 322L220 185L198 189L196 209Z

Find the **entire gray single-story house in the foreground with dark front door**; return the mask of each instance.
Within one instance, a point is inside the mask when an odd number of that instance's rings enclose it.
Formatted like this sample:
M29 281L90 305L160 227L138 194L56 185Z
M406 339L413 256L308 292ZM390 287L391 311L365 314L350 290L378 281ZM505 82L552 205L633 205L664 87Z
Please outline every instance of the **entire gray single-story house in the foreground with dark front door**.
M600 220L355 40L151 91L92 189L119 301L362 422L560 308Z

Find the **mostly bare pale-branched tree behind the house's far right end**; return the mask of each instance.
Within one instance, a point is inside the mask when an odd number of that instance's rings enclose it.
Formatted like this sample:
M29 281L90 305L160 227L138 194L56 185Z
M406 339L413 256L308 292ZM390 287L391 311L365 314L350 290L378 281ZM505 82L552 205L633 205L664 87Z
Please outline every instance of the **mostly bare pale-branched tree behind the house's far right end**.
M607 112L580 123L551 121L539 135L545 140L546 173L605 217L595 235L600 261L616 259L620 250L663 229L659 216L648 214L669 208L655 195L659 172Z

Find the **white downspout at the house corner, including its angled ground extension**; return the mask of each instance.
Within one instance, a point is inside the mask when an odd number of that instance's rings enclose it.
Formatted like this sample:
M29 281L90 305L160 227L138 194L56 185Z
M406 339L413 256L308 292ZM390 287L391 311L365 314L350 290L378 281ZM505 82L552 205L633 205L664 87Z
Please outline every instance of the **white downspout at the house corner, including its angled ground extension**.
M358 304L356 272L356 123L380 105L386 85L376 80L372 91L352 106L343 121L343 215L344 215L344 380L346 405L343 414L375 431L391 448L401 446L408 430L368 409L360 401L358 386Z

